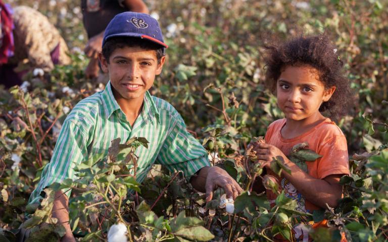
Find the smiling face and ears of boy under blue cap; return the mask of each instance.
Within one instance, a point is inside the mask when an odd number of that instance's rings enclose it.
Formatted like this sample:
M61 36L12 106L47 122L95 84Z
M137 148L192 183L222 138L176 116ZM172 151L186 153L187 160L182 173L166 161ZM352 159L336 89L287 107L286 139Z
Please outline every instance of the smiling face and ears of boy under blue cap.
M158 64L155 50L140 47L116 48L109 62L100 53L101 68L109 72L116 99L142 100L154 84L155 76L162 72L163 56Z

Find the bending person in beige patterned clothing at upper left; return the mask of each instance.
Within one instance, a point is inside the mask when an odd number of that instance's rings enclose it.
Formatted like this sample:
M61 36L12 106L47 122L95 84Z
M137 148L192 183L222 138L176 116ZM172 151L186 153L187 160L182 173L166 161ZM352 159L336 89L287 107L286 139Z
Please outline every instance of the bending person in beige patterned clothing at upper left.
M22 83L28 71L50 72L70 64L69 49L57 28L41 13L26 7L12 9L0 0L0 84Z

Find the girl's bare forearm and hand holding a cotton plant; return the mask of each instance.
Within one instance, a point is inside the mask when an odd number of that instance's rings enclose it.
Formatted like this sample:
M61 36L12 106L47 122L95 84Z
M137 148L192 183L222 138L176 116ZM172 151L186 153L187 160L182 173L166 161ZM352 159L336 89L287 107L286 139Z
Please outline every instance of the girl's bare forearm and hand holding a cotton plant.
M260 162L267 169L270 169L270 162L273 158L282 160L291 170L290 174L283 170L282 176L311 203L321 208L327 208L326 203L330 207L337 206L338 200L342 196L342 186L339 181L343 174L328 175L323 179L314 178L290 161L283 152L273 145L258 143L254 150L258 154L259 160L257 162Z

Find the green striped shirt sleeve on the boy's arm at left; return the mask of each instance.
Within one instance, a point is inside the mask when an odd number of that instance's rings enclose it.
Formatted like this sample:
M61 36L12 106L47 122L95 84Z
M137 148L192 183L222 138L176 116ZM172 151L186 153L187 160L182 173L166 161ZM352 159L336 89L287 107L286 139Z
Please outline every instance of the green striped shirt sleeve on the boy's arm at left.
M65 120L53 156L40 176L36 189L32 192L29 203L37 203L41 197L41 191L53 183L74 178L74 167L87 159L86 136L71 120ZM71 191L66 189L69 197Z

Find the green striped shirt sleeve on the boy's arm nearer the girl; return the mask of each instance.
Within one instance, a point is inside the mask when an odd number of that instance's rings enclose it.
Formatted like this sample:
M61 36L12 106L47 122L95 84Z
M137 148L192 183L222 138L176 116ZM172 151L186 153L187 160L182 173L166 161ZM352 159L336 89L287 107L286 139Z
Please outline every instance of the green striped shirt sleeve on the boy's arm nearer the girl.
M182 117L177 114L173 118L175 120L156 163L164 165L170 172L181 170L185 178L189 179L201 168L210 166L208 153L198 140L187 132Z

